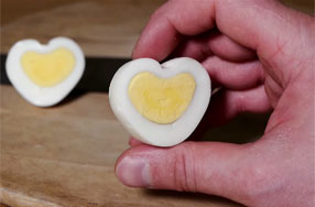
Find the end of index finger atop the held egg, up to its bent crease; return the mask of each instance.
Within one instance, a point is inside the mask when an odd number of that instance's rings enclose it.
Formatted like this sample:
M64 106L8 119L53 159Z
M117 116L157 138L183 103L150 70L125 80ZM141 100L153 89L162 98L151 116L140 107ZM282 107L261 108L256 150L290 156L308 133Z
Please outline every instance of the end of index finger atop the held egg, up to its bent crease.
M133 58L162 61L177 46L182 35L196 35L213 28L214 1L167 1L150 18L132 53ZM193 7L192 7L193 6Z

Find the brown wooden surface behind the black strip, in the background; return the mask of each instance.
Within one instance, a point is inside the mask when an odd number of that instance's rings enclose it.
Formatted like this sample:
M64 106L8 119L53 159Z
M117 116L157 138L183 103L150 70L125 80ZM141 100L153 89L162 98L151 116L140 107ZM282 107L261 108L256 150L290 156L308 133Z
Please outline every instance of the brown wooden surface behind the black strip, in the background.
M1 0L1 50L19 40L74 39L87 56L130 57L151 13L166 0ZM313 0L281 0L314 13ZM21 3L23 2L23 3Z

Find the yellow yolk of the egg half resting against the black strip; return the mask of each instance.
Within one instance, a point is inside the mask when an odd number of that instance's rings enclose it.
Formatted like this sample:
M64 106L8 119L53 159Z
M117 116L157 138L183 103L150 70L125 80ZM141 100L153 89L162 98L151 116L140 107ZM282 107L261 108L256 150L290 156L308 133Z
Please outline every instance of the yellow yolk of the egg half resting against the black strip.
M25 52L21 65L26 76L41 87L51 87L63 81L75 66L74 54L59 47L51 53Z

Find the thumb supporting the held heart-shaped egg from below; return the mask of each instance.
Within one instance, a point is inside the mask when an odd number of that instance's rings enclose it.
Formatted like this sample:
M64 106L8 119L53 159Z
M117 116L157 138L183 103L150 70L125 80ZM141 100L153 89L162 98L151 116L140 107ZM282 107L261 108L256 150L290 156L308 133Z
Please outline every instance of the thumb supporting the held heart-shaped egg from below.
M248 186L248 173L242 173L245 148L219 142L184 142L166 149L140 144L119 157L116 174L132 187L200 192L240 201Z

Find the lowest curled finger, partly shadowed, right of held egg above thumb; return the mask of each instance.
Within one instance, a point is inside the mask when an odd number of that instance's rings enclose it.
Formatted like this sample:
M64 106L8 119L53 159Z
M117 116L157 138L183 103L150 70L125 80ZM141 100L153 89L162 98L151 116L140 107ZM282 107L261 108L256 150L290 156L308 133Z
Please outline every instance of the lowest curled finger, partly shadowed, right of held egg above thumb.
M263 85L243 91L224 89L211 97L204 120L207 121L207 127L215 127L226 123L239 113L263 113L271 109Z

